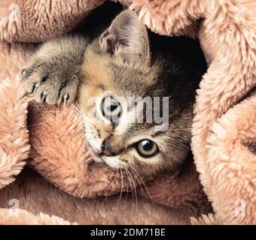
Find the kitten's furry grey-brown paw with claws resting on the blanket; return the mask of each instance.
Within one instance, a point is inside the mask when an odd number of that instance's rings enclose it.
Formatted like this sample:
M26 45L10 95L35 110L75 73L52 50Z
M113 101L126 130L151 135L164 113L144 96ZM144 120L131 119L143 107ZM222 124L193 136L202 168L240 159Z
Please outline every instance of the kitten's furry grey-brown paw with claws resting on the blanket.
M66 69L38 62L23 69L26 92L38 103L60 104L75 101L78 77Z

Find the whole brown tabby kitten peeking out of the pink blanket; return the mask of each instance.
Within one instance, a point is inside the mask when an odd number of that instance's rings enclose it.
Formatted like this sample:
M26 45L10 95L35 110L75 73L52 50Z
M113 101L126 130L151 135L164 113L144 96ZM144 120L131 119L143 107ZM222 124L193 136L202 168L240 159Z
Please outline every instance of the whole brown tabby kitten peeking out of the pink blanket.
M39 103L77 98L95 160L153 175L175 169L187 156L196 89L205 72L196 40L153 34L136 13L124 10L93 40L71 36L44 43L22 74ZM130 97L139 101L131 104ZM158 107L148 112L157 97ZM167 125L145 121L156 112ZM138 115L143 121L130 121Z

